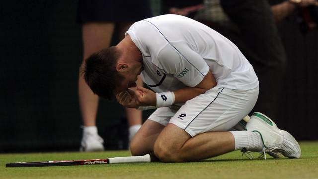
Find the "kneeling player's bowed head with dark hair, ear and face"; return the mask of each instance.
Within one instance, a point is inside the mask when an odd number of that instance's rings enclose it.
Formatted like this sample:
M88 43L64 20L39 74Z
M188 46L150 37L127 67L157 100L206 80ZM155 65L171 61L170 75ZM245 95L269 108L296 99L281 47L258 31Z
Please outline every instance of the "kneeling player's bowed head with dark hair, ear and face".
M140 59L118 47L109 47L92 54L85 61L83 75L90 89L100 97L112 97L136 86L142 70Z

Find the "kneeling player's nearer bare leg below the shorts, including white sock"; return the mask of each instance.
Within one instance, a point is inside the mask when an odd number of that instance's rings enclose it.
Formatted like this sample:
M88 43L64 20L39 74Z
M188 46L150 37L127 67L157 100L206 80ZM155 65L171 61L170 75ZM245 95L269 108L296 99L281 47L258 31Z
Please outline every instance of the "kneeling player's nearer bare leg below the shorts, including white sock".
M160 133L154 145L155 155L164 162L198 161L227 152L248 148L261 151L263 144L259 134L249 131L236 131L241 133L237 146L232 132L205 132L191 137L183 129L169 123ZM173 137L171 137L173 136ZM255 149L254 149L255 148Z

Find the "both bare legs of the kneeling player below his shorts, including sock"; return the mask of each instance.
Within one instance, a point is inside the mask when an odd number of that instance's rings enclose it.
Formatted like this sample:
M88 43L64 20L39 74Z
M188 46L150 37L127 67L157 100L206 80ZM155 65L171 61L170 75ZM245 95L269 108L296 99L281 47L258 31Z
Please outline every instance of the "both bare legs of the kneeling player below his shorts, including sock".
M155 152L165 162L196 161L224 154L244 147L260 151L259 134L240 132L235 141L232 132L206 132L191 137L183 129L169 123L166 127L147 120L134 136L130 151L133 156ZM256 146L256 147L255 147Z

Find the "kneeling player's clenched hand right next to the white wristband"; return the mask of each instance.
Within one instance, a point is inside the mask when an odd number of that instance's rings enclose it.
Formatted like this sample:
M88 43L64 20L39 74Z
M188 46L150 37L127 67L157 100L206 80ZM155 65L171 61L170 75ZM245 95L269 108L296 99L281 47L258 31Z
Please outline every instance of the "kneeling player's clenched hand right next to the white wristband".
M156 93L149 89L137 87L135 96L139 106L156 106Z

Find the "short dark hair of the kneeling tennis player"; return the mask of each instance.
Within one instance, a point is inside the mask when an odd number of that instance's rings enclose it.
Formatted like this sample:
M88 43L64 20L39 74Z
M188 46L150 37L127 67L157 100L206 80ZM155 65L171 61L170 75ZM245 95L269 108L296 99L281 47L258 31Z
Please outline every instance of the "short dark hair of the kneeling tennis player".
M120 52L109 47L93 53L85 61L82 73L90 89L98 96L111 100L116 84L124 77L116 71Z

